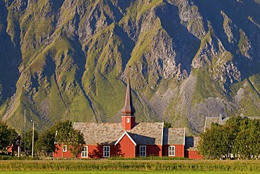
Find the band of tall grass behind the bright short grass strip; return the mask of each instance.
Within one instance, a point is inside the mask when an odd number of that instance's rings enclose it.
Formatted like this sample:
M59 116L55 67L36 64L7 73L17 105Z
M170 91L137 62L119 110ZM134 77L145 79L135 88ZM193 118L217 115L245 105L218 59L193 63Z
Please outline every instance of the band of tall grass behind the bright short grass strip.
M70 160L1 161L0 170L197 170L260 172L260 161Z

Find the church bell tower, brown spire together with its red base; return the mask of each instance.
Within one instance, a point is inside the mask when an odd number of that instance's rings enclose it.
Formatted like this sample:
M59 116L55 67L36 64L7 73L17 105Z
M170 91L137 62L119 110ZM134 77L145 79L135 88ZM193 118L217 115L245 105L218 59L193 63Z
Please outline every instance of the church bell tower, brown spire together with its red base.
M129 131L136 126L136 116L134 116L134 112L136 112L136 109L134 109L133 106L130 79L128 79L126 87L126 100L124 102L121 116L122 126L126 131Z

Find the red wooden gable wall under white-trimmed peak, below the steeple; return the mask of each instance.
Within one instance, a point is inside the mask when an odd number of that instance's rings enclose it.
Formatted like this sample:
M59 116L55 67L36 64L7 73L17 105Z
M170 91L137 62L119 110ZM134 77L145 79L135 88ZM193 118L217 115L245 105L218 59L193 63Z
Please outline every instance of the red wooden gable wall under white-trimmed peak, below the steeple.
M136 146L129 139L129 137L127 135L124 135L122 140L120 140L119 147L122 150L122 157L125 157L125 158L136 157Z

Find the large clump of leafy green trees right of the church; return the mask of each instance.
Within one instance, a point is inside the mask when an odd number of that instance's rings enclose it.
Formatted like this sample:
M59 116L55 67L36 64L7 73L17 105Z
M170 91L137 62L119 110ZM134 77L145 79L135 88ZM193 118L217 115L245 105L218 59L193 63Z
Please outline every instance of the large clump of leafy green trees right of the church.
M198 149L204 158L258 159L260 155L260 120L246 117L230 118L224 126L212 123L210 129L200 135Z

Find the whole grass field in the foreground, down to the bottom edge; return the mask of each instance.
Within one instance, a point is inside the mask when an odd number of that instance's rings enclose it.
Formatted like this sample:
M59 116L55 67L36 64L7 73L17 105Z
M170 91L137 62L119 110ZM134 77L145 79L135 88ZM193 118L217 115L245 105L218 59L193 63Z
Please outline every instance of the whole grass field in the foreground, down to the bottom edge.
M1 173L259 173L260 161L210 160L3 160Z

